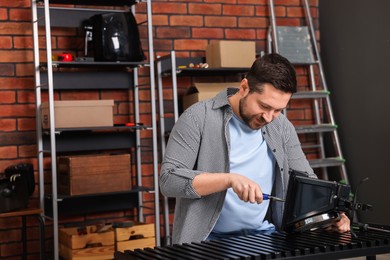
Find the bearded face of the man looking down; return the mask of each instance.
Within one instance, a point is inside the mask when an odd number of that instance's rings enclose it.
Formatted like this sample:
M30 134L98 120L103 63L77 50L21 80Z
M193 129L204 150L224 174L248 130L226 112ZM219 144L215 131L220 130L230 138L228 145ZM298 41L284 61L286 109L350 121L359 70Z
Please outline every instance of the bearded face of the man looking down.
M292 95L268 83L264 84L262 93L249 93L249 87L240 91L244 91L239 103L240 117L254 130L262 128L277 118L286 108Z

